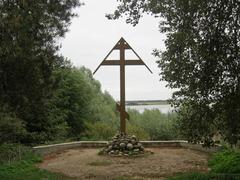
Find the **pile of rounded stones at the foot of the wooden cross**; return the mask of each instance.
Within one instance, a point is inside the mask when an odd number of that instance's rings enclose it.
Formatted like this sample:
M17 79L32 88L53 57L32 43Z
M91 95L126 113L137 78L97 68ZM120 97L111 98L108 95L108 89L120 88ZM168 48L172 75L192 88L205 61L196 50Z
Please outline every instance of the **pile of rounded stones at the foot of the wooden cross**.
M113 156L131 156L144 154L144 147L136 136L117 134L109 141L100 154Z

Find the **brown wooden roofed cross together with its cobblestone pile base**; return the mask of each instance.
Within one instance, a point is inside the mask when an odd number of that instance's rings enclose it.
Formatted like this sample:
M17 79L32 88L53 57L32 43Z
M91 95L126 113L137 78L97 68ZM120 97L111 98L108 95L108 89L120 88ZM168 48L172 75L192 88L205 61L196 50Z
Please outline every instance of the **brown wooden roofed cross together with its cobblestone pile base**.
M114 50L119 50L119 60L108 60L107 58ZM137 59L126 60L125 50L132 50ZM107 147L101 151L102 154L138 155L144 154L145 152L136 136L126 135L126 119L129 119L129 115L125 108L125 66L127 65L144 65L152 73L133 48L125 39L121 38L93 73L95 74L101 66L120 66L120 104L116 104L117 110L120 112L120 133L113 137Z

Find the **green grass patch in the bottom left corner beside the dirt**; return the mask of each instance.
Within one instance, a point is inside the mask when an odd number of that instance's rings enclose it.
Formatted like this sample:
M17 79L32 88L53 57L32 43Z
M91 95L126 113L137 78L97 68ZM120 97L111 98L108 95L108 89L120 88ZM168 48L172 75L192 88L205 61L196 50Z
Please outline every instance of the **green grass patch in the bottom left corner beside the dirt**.
M34 154L28 147L4 144L0 146L0 153L0 179L2 180L70 179L62 174L38 168L36 164L41 162L41 157Z

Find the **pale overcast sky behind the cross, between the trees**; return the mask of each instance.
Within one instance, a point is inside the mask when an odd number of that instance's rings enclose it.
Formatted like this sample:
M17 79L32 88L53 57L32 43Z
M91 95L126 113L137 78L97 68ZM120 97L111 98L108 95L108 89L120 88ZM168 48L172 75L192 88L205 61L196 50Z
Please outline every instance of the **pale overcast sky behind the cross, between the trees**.
M126 100L158 100L171 97L172 90L165 87L166 82L159 81L159 68L156 58L151 55L157 48L164 50L165 35L158 31L158 19L145 16L133 27L125 19L110 21L105 17L116 8L114 0L85 0L85 5L76 10L79 17L74 18L70 31L62 40L61 53L71 59L75 66L85 66L94 71L104 57L123 37L153 71L145 66L126 67ZM132 54L126 55L134 58ZM118 59L119 55L112 56ZM110 58L111 58L110 57ZM94 78L102 84L115 100L120 98L120 80L118 66L102 66Z

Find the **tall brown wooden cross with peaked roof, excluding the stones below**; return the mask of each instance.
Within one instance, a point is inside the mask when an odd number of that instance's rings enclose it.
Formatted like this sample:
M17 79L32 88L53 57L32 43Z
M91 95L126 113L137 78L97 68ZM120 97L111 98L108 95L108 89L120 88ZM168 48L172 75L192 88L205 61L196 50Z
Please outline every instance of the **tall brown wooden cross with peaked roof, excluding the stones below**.
M138 59L126 60L125 50L132 50ZM107 60L108 56L114 51L120 51L120 60ZM129 115L125 108L125 66L126 65L145 65L146 68L152 73L149 67L143 62L139 55L131 48L131 46L121 38L117 44L112 48L108 55L104 58L101 64L97 67L93 74L97 72L100 66L120 66L120 105L116 103L117 110L120 112L120 132L126 134L126 119L129 119Z

